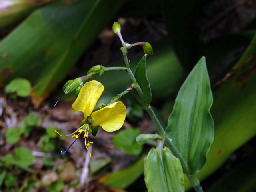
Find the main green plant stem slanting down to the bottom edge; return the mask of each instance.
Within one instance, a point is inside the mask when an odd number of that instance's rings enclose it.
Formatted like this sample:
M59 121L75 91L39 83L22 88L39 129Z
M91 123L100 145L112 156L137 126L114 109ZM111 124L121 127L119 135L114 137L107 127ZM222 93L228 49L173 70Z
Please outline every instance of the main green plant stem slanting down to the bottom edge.
M128 61L127 55L123 54L124 56L124 62L126 64L126 71L128 72L128 75L130 76L132 82L136 82L136 78L134 77L134 74L132 72L132 70L130 69L130 63ZM136 91L138 93L138 95L140 96L140 98L144 98L144 94L142 92L142 89L140 88L140 86L136 86ZM166 132L164 130L164 128L162 127L162 125L160 124L156 114L154 113L153 109L151 108L151 106L149 105L146 108L148 114L150 115L151 119L153 120L154 124L156 125L156 128L158 130L158 134L160 136L166 136ZM166 140L165 140L165 144L168 148L170 148L170 150L172 150L173 154L179 158L180 163L182 164L182 168L184 170L184 173L188 176L190 183L192 184L194 190L196 190L196 192L203 192L202 187L200 186L200 182L197 178L196 175L190 175L190 169L188 167L188 164L186 163L186 161L184 160L184 158L181 156L180 152L176 149L176 147L174 146L174 144L172 143L172 139L169 138L168 136L166 136Z

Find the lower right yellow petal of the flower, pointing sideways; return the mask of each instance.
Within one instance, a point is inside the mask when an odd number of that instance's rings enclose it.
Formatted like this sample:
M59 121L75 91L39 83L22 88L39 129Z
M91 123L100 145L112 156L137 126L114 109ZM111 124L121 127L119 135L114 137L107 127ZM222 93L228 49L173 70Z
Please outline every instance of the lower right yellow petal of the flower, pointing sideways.
M112 103L92 113L94 125L100 125L107 132L120 129L124 124L126 107L121 101Z

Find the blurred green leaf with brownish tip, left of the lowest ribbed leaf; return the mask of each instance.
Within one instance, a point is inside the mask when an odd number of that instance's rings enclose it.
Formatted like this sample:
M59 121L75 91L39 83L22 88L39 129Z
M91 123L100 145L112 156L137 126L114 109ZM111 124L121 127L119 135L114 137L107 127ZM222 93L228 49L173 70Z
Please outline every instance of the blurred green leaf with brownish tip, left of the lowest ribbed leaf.
M100 178L100 183L124 189L132 184L144 171L143 155L136 163L122 170L106 174Z

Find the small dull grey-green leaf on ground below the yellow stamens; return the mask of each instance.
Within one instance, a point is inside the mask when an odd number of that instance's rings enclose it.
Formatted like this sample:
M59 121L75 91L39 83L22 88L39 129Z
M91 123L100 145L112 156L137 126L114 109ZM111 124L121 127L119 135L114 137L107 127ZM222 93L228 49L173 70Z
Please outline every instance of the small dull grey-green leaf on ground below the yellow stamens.
M90 160L90 174L95 174L98 170L106 166L111 162L111 159L108 156L92 156Z

